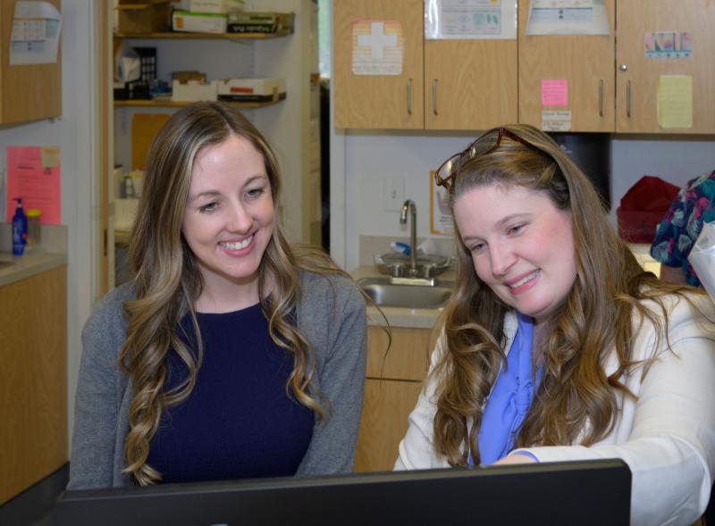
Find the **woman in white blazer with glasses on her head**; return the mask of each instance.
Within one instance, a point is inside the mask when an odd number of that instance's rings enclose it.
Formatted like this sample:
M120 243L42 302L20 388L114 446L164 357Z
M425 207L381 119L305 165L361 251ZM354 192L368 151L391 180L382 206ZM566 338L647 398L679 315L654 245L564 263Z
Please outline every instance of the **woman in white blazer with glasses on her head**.
M538 129L489 130L436 177L457 289L396 469L617 457L633 524L693 522L715 470L708 296L644 272Z

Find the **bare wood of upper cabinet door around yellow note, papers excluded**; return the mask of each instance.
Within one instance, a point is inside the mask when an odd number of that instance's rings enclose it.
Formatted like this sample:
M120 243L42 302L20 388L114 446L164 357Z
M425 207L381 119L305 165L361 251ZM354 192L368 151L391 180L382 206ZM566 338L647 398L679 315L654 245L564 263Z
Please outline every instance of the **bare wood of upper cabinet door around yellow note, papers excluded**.
M709 0L620 0L617 4L616 131L635 133L715 133L715 4ZM680 58L647 58L646 35L689 33L692 53ZM692 78L691 128L663 128L658 122L660 77Z

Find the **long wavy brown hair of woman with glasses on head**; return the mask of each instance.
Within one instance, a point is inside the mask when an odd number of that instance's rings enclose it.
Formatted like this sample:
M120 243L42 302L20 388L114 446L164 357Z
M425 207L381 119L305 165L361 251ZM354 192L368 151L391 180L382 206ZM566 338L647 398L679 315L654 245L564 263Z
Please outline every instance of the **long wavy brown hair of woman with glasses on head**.
M668 325L662 296L694 288L658 280L643 270L628 246L613 232L593 184L545 133L527 125L503 129L523 144L492 129L477 139L475 154L458 166L450 202L476 187L517 185L543 192L570 213L576 254L576 280L565 304L551 321L548 338L534 348L543 379L517 437L517 447L590 446L606 436L618 412L616 392L633 396L618 380L639 364L633 342L633 314L651 322L658 337ZM493 149L492 149L493 148ZM491 151L490 151L491 150ZM479 463L478 434L484 404L506 362L504 317L510 307L480 280L457 232L456 291L442 317L442 360L437 382L434 447L452 466L466 465L471 452ZM642 305L651 299L657 312ZM655 347L654 347L655 348ZM613 352L618 370L610 376L603 363Z

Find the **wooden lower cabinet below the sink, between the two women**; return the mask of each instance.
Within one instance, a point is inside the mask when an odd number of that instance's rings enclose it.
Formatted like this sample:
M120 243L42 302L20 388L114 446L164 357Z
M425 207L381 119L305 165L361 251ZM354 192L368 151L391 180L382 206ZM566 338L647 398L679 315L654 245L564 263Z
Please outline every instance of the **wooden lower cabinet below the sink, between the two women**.
M391 329L392 343L380 327L367 329L367 373L355 471L391 471L408 429L432 351L432 331Z

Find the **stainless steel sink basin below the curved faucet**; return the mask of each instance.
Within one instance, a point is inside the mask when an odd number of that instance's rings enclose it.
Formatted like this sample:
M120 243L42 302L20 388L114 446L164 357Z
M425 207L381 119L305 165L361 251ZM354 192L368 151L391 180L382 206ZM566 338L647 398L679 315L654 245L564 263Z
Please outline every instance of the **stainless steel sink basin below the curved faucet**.
M363 278L357 285L365 290L374 303L385 307L410 309L437 309L450 299L453 281L437 280L433 286L393 285L387 276Z

